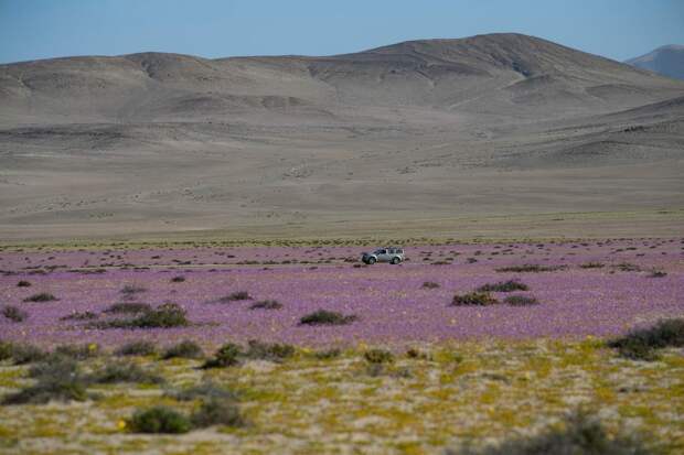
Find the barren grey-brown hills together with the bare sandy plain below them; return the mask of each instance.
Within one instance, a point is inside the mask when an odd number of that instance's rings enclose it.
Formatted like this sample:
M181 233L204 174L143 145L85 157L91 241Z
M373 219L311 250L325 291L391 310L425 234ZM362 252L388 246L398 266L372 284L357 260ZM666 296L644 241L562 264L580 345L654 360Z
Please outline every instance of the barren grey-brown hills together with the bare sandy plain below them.
M510 33L6 64L0 238L682 207L682 118L684 82Z

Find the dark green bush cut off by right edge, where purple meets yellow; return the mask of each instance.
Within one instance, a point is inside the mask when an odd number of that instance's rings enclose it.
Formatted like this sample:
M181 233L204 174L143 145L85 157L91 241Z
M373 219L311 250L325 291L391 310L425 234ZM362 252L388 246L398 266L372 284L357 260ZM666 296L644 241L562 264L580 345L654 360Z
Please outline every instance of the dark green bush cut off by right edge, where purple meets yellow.
M620 356L634 360L654 360L658 349L684 346L684 318L660 321L652 327L638 328L608 342Z

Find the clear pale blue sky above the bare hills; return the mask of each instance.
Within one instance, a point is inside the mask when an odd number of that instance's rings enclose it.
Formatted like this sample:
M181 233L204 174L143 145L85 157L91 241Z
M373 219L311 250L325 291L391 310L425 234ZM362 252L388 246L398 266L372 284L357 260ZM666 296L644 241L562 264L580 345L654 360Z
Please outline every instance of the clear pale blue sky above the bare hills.
M332 55L493 32L624 61L684 44L684 0L0 0L0 63L151 51Z

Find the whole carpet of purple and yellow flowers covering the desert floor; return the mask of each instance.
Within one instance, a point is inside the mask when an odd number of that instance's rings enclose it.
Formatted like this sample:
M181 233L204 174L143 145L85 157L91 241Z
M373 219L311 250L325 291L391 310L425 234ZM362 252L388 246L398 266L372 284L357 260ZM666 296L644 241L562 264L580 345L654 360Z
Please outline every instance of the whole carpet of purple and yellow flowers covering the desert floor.
M606 340L684 317L683 248L415 241L366 267L354 242L3 247L0 398L49 402L0 405L0 452L477 453L580 409L609 440L678 453L682 347L628 358ZM164 356L183 339L199 347ZM207 381L235 408L173 394ZM136 433L160 404L189 432Z

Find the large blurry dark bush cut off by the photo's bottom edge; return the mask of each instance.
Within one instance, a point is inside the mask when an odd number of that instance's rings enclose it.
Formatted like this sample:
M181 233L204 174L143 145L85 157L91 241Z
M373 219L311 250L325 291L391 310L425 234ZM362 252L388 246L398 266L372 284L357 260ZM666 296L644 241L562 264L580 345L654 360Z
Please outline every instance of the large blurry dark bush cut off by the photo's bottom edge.
M482 449L447 451L447 455L654 455L637 434L620 432L611 435L601 422L583 411L567 416L560 426L543 430L533 436L504 441Z

